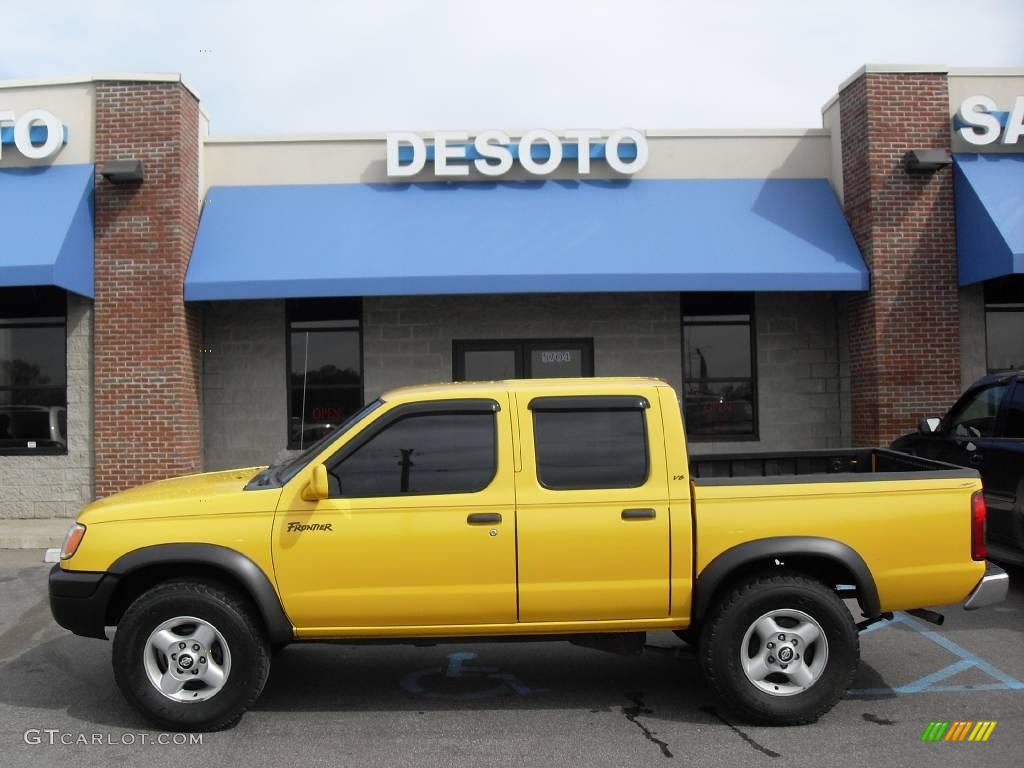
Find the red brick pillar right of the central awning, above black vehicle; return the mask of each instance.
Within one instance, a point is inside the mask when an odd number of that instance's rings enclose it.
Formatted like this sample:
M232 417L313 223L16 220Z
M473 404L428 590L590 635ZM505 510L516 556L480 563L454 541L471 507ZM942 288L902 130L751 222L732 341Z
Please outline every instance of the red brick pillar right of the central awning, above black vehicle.
M959 393L952 169L908 174L946 148L945 74L865 73L840 92L843 190L871 290L849 303L854 445L888 445Z

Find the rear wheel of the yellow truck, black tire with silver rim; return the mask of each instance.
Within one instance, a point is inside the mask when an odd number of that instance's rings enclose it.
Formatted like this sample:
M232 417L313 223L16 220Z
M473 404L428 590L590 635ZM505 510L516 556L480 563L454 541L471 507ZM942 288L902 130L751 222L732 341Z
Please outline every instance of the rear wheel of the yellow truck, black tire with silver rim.
M860 640L827 586L804 575L762 575L732 590L700 637L708 683L759 725L813 723L853 681Z

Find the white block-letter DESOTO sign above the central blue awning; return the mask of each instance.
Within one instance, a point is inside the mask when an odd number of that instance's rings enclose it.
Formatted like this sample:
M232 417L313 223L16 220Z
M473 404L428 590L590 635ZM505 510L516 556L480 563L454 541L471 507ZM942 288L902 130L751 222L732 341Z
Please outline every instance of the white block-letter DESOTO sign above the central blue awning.
M438 131L433 134L433 146L428 147L417 133L392 131L387 134L387 175L415 176L426 167L431 151L437 176L466 176L470 167L484 176L502 176L512 169L513 155L535 176L553 173L563 160L574 157L577 172L586 176L591 172L592 146L603 148L605 162L617 173L634 174L647 164L647 137L641 131L621 128L602 136L593 129L562 131L560 135L537 129L526 131L513 144L508 134L499 130L480 131L472 142L467 131ZM632 157L624 158L620 147L631 144L634 148L628 155Z

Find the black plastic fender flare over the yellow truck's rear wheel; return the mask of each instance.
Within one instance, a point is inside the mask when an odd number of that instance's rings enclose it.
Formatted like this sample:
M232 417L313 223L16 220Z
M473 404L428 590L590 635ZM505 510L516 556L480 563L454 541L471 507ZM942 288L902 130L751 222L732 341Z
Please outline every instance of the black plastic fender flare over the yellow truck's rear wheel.
M830 560L853 574L860 609L868 618L882 612L879 590L870 568L856 550L835 539L815 536L776 536L737 544L722 552L701 570L693 589L693 621L708 612L716 590L737 569L772 558L807 556Z

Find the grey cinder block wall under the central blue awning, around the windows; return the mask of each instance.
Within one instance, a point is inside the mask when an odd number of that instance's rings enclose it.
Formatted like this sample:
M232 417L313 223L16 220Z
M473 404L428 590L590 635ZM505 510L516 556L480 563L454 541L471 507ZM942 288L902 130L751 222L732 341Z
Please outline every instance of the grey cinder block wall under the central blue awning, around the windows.
M849 444L849 398L831 294L756 298L759 441L695 442L698 453ZM287 443L285 305L203 308L203 451L208 470L271 461ZM679 390L679 295L530 294L364 300L367 399L452 380L455 339L593 338L598 376L656 376Z

